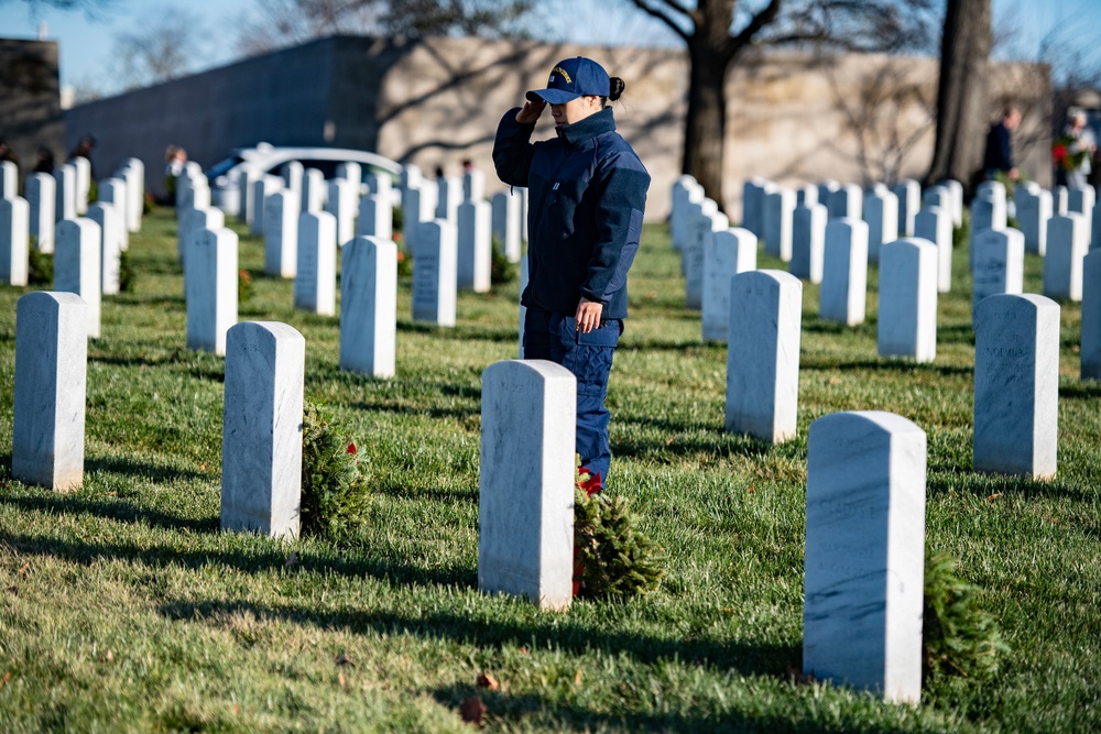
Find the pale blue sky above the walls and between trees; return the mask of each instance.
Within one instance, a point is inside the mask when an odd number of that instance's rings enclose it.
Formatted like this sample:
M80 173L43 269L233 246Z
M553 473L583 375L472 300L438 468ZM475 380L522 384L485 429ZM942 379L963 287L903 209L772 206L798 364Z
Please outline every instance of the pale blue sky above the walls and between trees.
M903 0L900 0L903 1ZM33 39L37 23L46 24L46 37L59 43L63 85L109 86L112 48L119 33L134 31L155 21L168 8L185 10L201 19L203 48L192 70L226 63L233 56L233 21L255 6L255 0L113 0L113 10L89 19L84 12L40 8L32 17L26 2L0 0L0 36ZM1101 0L993 0L994 24L1014 29L1006 53L1035 58L1040 41L1060 28L1060 39L1080 47L1091 63L1101 63ZM643 21L644 22L644 21ZM552 33L578 43L601 43L591 29L558 29ZM632 34L639 37L637 34Z

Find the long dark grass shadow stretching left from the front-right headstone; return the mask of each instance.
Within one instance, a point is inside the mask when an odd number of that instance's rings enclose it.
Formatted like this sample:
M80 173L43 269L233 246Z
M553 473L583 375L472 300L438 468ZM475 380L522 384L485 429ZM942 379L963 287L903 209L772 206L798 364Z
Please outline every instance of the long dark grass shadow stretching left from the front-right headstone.
M798 645L750 645L708 637L652 637L639 633L593 628L557 614L541 615L532 622L500 618L470 618L451 612L403 614L381 610L317 610L307 604L259 605L237 601L176 601L161 606L170 620L194 621L248 612L257 618L281 620L331 629L340 627L363 635L407 634L422 639L450 640L486 647L557 648L571 654L599 649L609 655L625 654L653 664L663 659L711 665L743 675L786 675L799 665Z

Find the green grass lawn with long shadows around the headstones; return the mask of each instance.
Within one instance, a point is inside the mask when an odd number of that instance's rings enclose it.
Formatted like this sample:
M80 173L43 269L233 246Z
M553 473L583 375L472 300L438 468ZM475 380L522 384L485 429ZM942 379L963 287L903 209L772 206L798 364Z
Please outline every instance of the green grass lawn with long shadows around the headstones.
M235 228L257 275L263 244ZM240 319L305 336L306 395L352 428L374 486L352 543L279 543L218 529L225 365L185 348L174 235L171 212L148 216L137 292L105 299L69 494L11 479L25 291L0 288L0 732L470 731L475 694L503 731L1101 731L1101 383L1078 379L1077 304L1051 481L971 470L963 251L931 364L877 358L874 269L860 327L819 321L805 286L798 438L773 447L723 432L726 348L701 342L667 232L647 227L609 393L610 491L666 548L666 578L544 613L477 588L480 375L516 357L516 284L460 295L458 326L437 329L412 322L404 278L397 376L372 381L338 370L338 319L255 277ZM1028 255L1028 292L1040 264ZM870 409L927 432L927 547L959 559L1012 648L994 680L937 680L917 706L791 677L807 428Z

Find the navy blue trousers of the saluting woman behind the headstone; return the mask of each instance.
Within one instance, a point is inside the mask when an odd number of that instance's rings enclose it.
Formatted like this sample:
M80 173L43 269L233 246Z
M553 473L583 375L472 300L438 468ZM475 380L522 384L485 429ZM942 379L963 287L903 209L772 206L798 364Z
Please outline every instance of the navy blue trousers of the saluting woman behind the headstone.
M604 484L612 462L608 447L611 414L604 407L604 397L622 331L621 319L608 319L600 322L599 329L581 333L573 316L532 306L524 317L524 359L557 362L577 377L577 453L581 465L599 472Z

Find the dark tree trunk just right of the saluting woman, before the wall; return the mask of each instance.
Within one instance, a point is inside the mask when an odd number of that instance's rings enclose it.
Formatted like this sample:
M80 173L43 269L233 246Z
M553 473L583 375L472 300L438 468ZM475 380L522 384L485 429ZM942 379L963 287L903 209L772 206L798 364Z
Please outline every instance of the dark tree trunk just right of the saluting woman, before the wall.
M705 195L726 209L722 198L722 153L727 127L727 64L719 54L688 46L690 81L685 121L683 171L696 178Z

